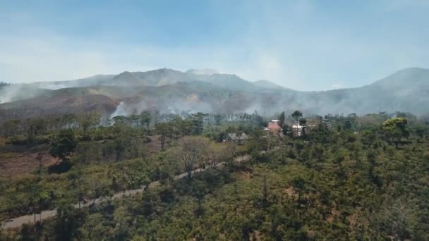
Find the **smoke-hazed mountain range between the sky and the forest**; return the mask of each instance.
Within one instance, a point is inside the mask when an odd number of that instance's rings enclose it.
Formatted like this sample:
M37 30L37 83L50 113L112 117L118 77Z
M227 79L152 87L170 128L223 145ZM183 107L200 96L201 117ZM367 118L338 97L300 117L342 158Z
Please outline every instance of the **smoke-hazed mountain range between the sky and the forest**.
M371 85L302 92L267 80L249 82L212 70L181 72L167 68L80 80L35 82L17 86L14 97L0 104L4 121L20 116L85 111L111 114L123 102L127 113L161 111L273 113L299 109L307 114L409 111L428 113L429 70L406 68ZM10 89L9 89L10 90ZM4 89L2 96L9 93ZM5 101L4 101L5 102Z

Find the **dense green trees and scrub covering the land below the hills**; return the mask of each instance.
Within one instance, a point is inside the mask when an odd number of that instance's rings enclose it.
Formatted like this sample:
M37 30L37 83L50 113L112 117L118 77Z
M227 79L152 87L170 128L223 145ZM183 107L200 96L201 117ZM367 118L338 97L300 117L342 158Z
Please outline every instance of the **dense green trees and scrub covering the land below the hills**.
M0 159L38 162L0 176L0 221L57 210L0 240L429 240L429 119L411 113L86 113L0 136Z

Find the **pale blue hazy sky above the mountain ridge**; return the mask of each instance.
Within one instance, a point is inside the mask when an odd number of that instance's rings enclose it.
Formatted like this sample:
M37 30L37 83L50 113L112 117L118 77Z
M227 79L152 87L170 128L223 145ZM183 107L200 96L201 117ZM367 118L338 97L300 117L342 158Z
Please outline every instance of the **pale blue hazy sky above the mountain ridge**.
M0 80L211 68L298 90L429 68L429 1L0 0Z

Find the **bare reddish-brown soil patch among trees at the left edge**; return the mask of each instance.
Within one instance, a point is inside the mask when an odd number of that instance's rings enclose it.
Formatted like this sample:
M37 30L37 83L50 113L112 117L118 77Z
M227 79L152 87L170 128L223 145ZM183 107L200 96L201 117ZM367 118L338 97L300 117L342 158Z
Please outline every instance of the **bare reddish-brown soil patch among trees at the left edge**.
M24 152L0 152L0 176L7 177L36 170L39 168L37 155L36 152L28 150ZM50 166L56 161L56 158L42 152L42 166Z

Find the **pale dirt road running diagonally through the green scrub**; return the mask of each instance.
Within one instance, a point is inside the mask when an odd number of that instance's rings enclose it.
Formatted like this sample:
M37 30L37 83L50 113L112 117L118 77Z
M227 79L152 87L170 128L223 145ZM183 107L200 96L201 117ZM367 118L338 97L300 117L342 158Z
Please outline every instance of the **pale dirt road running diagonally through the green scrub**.
M243 162L243 161L248 161L248 159L250 158L249 155L245 155L245 156L238 156L236 157L236 159L234 160L237 163ZM220 162L217 163L216 166L222 166L224 165L224 162ZM195 169L194 171L192 171L192 173L200 173L203 171L207 171L209 168L198 168ZM179 175L176 175L174 177L174 180L179 180L181 178L185 178L186 175L188 175L188 173L181 173ZM147 188L153 188L153 187L157 187L159 186L159 182L155 181L150 183L147 186L142 186L138 189L134 189L134 190L126 190L124 192L116 192L113 197L111 197L111 199L119 199L122 197L126 197L126 196L130 196L133 194L138 194L141 192L145 192L145 190ZM100 202L102 202L105 198L103 197L99 197L97 199L95 199L93 202L87 202L86 204L80 204L80 207L85 207L85 206L90 206L90 204L99 204ZM79 208L79 204L74 204L73 205L75 207L75 209ZM20 216L17 218L12 218L11 221L7 221L6 223L3 223L3 225L1 225L1 228L7 229L7 228L20 228L24 223L35 223L35 221L43 221L47 218L52 218L56 215L56 209L52 209L52 210L46 210L46 211L42 211L41 214L29 214L29 215L25 215L25 216Z

